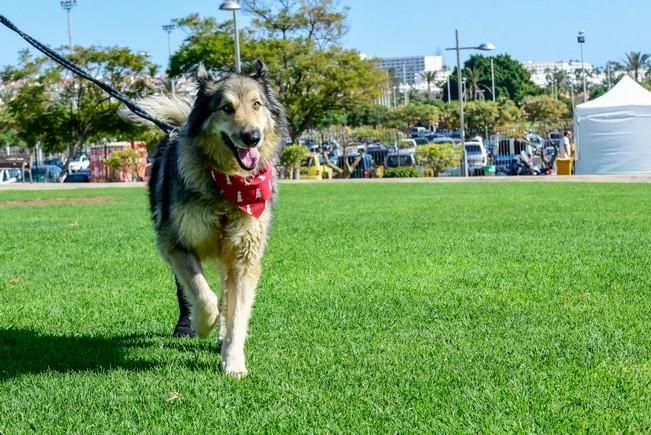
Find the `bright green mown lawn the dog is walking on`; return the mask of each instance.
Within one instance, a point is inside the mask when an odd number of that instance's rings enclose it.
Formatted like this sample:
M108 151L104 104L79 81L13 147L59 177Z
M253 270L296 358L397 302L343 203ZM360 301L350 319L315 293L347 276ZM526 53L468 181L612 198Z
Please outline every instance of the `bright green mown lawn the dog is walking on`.
M2 434L651 431L651 185L282 185L241 381L144 190L0 192L77 197L0 207Z

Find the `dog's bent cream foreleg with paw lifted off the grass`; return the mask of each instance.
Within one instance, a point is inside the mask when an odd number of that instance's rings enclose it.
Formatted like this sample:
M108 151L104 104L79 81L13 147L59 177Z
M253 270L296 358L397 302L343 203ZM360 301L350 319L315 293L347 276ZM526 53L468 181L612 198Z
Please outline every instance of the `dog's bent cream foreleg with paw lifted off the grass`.
M201 262L195 254L178 249L171 250L166 257L190 303L192 329L199 337L208 337L217 322L219 310L217 296L206 281Z

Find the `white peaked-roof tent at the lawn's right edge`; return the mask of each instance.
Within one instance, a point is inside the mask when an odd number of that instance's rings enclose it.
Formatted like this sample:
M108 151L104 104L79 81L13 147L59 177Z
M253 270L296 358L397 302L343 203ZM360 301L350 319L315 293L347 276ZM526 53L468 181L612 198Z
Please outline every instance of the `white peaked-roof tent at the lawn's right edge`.
M624 76L574 111L576 173L651 173L651 92Z

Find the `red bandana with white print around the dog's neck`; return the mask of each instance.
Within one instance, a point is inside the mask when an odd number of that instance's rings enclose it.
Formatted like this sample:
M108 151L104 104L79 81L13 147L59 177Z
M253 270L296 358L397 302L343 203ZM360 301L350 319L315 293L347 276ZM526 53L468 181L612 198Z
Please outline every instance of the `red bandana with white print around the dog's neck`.
M270 163L264 165L257 174L248 177L224 175L214 169L210 175L228 202L243 212L257 219L267 208L272 195L273 171Z

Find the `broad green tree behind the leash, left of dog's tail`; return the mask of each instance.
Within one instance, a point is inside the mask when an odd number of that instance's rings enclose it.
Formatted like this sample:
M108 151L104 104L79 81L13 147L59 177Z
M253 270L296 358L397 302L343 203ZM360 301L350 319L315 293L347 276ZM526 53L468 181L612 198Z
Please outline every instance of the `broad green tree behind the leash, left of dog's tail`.
M153 90L156 66L128 48L76 46L67 58L129 97ZM7 107L28 146L40 143L50 152L67 148L72 157L88 140L133 138L145 130L120 119L121 103L105 91L47 58L25 54L18 67L5 68L1 76L18 84Z

